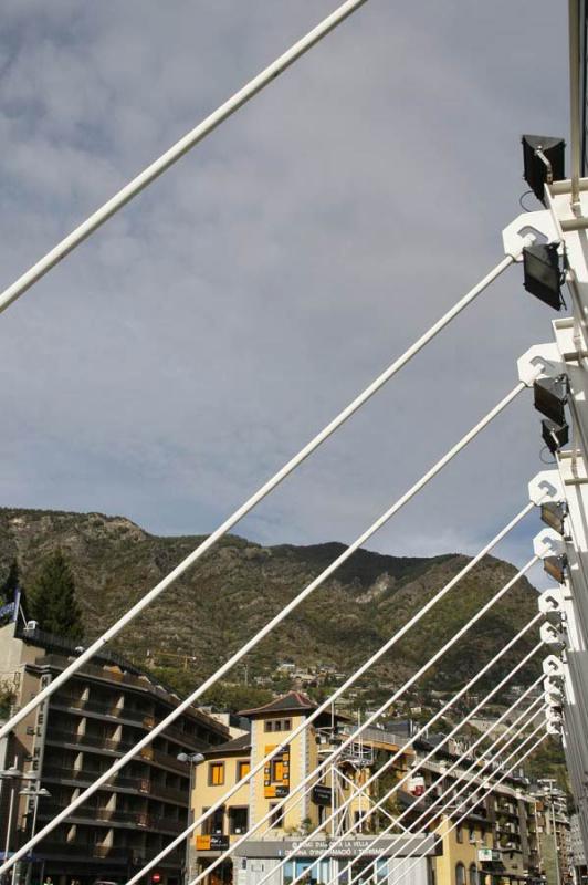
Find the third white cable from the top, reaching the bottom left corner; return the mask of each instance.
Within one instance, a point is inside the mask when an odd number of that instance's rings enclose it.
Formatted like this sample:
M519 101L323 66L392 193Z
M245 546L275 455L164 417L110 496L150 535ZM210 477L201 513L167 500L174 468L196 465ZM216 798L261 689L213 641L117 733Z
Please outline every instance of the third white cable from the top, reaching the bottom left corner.
M14 864L20 857L24 856L24 854L27 853L27 851L30 847L32 847L38 842L40 842L48 833L50 833L65 818L67 818L67 815L71 814L71 812L74 809L78 808L83 802L85 802L86 799L88 799L91 795L93 795L93 793L95 793L96 790L98 790L99 787L102 787L103 783L106 783L106 781L108 781L113 777L113 774L115 774L117 771L119 771L144 747L147 747L161 731L165 731L165 729L178 716L180 716L183 712L183 710L186 710L188 707L190 707L193 704L193 701L197 700L202 694L204 694L204 691L207 691L211 686L213 686L214 683L217 683L221 678L221 676L224 675L224 673L230 670L232 668L232 666L234 666L234 664L237 664L239 660L241 660L241 658L244 657L244 655L246 655L252 648L254 648L255 645L259 642L261 642L261 639L264 636L266 636L273 629L274 626L280 624L292 611L294 611L294 608L297 605L300 605L301 602L303 602L303 600L305 600L307 596L309 596L311 593L314 590L316 590L316 587L318 587L330 574L333 574L338 569L339 565L342 565L347 559L349 559L349 556L351 556L351 554L356 550L358 550L360 546L363 546L366 543L366 541L376 531L378 531L378 529L380 529L384 524L386 524L386 522L388 522L388 520L390 520L392 518L392 516L395 516L395 513L397 513L434 476L437 476L437 473L439 473L440 470L442 470L443 467L445 467L458 455L458 452L460 452L469 442L471 442L472 439L474 439L477 436L477 434L481 433L481 430L483 430L484 427L486 427L486 425L490 424L490 421L492 421L493 418L496 417L496 415L500 415L500 413L504 408L506 408L506 406L510 403L512 403L512 400L524 388L525 388L525 385L523 383L517 384L511 391L510 394L507 394L496 406L494 406L494 408L491 409L484 416L484 418L482 418L481 421L479 421L471 430L469 430L468 434L465 434L465 436L463 436L462 439L459 442L455 444L455 446L453 446L442 458L440 458L439 461L437 461L437 464L433 465L433 467L431 467L403 496L401 496L392 504L392 507L390 507L381 517L379 517L376 520L376 522L372 523L372 525L370 525L370 528L366 532L364 532L361 535L359 535L359 538L353 544L350 544L339 556L337 556L337 559L334 562L332 562L330 565L328 565L318 575L318 577L316 577L314 581L312 581L301 593L298 593L298 595L294 600L292 600L292 602L290 602L287 605L285 605L284 608L280 612L280 614L277 614L275 617L273 617L261 631L259 631L259 633L252 639L250 639L248 643L245 643L245 645L243 645L239 649L239 652L237 652L234 655L232 655L232 657L230 657L229 660L227 660L221 667L219 667L219 669L217 669L217 671L212 676L210 676L208 679L206 679L200 685L199 688L197 688L195 691L192 691L191 695L189 695L188 698L186 698L183 701L181 701L181 704L179 704L165 719L162 719L160 722L158 722L147 735L145 735L144 738L141 738L141 740L139 740L130 750L128 750L124 756L122 756L120 759L117 759L115 762L113 762L111 768L108 768L106 771L104 771L94 781L94 783L92 783L90 787L87 787L85 790L83 790L80 793L80 795L77 795L75 799L73 799L66 808L62 809L62 811L60 811L59 814L56 814L55 818L53 818L53 820L51 820L48 824L45 824L45 826L42 830L40 830L39 833L32 835L31 839L29 840L29 842L25 845L23 845L18 851L15 851L11 855L11 857L9 860L6 860L4 863L2 864L2 866L0 866L0 874L4 870L10 868L10 866L12 866L12 864ZM66 670L64 670L61 675L63 676L65 673L66 673ZM59 683L59 680L60 680L60 677L56 677L52 683L50 683L49 687L51 687L52 685L55 685L55 683ZM46 690L46 689L44 689L44 690ZM36 700L41 695L43 695L43 691L41 691L40 695L38 695L34 700ZM23 709L25 709L25 708L23 708ZM21 714L22 714L22 710L21 710ZM0 737L1 737L1 735L0 735Z

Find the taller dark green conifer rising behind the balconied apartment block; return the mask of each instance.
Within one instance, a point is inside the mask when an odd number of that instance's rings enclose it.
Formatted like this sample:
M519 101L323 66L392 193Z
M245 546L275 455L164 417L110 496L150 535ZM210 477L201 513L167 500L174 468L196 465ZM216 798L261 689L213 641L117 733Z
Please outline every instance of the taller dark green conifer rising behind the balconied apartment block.
M61 550L41 566L29 590L31 616L41 629L81 639L82 615L75 598L75 583L70 564Z

